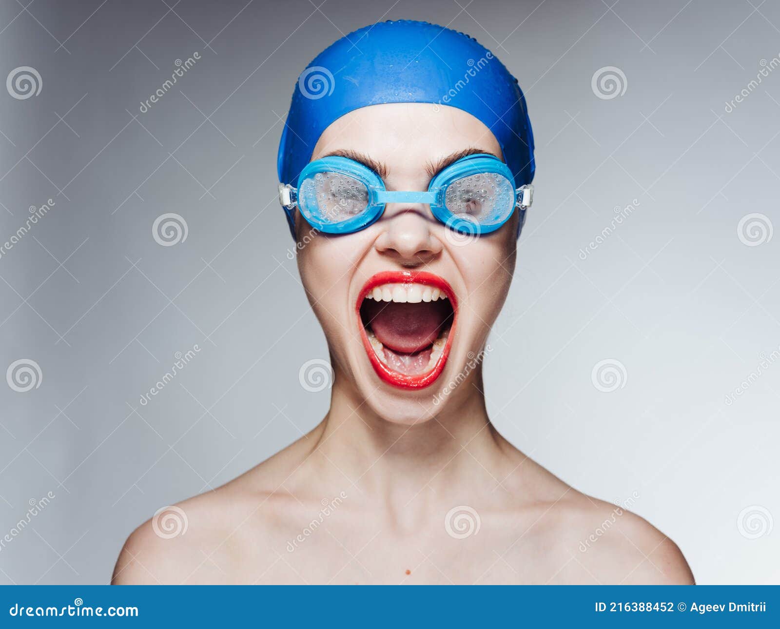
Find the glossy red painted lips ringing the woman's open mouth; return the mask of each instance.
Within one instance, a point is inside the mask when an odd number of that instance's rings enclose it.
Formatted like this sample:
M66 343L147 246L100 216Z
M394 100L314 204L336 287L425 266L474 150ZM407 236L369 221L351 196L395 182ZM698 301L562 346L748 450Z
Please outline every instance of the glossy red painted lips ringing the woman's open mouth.
M449 336L447 336L447 342L445 343L444 350L441 351L441 356L438 357L438 361L434 364L434 368L427 373L420 375L408 375L402 374L398 371L393 371L391 368L379 360L374 348L368 340L366 329L363 327L363 321L360 318L360 306L363 304L363 300L369 291L374 290L375 286L381 286L382 284L425 284L427 286L433 286L438 288L447 295L447 299L452 304L452 325L450 325ZM452 292L452 286L441 279L438 275L426 272L382 272L377 273L368 280L363 290L360 292L356 305L356 315L358 326L360 327L360 338L363 339L363 347L368 354L368 359L371 361L371 365L374 367L374 371L377 375L392 386L396 386L399 389L424 389L427 386L433 384L436 379L444 371L445 364L447 363L447 357L449 357L449 350L452 347L452 339L455 337L455 327L458 322L458 303L455 298L455 294Z

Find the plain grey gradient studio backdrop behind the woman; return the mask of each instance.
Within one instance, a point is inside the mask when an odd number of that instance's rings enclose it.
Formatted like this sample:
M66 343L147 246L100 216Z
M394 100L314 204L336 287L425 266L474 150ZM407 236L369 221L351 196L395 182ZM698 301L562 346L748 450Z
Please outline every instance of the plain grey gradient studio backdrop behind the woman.
M0 552L0 582L108 581L155 510L320 420L328 391L298 372L328 354L275 201L281 120L321 48L402 17L491 48L534 123L536 202L485 365L498 429L577 489L636 492L700 583L780 581L780 524L751 539L738 523L752 506L780 517L780 364L725 404L780 343L780 237L737 234L750 212L780 226L780 70L724 111L780 52L778 3L165 1L0 3L2 76L43 80L0 94L0 240L56 202L0 258L0 371L43 372L28 393L0 380L0 537L56 496ZM625 73L619 98L591 90L603 66ZM174 247L151 233L166 212L189 226ZM613 393L591 382L604 359L626 368Z

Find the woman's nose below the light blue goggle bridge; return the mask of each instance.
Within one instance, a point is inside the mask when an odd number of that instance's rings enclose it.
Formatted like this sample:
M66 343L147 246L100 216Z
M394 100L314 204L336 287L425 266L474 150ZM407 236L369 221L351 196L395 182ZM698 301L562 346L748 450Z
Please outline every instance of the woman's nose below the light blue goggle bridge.
M388 204L381 222L385 229L374 248L402 265L422 265L441 253L441 240L431 233L430 212L423 204Z

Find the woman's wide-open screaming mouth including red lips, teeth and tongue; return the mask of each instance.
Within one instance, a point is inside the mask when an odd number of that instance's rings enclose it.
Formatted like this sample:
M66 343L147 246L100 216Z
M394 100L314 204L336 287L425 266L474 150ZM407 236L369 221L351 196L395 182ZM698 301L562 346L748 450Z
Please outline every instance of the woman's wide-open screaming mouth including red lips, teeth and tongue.
M457 320L452 287L426 272L381 272L356 304L361 337L380 378L421 389L444 371Z

